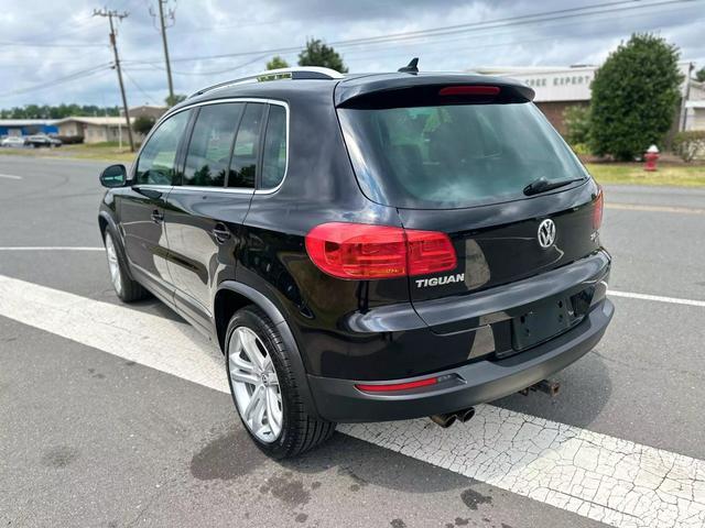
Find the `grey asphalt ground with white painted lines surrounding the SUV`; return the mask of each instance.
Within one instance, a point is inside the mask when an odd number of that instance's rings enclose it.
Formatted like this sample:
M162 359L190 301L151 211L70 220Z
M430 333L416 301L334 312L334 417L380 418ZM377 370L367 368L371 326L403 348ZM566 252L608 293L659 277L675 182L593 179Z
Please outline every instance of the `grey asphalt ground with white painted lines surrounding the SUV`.
M705 526L705 189L606 188L617 311L556 398L274 462L213 345L113 295L105 165L0 157L2 526Z

